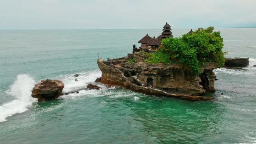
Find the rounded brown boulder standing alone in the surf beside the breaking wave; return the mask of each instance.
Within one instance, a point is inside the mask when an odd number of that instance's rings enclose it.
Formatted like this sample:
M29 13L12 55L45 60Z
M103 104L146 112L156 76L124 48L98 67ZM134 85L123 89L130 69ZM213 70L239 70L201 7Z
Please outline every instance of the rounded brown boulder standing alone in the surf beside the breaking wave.
M34 86L32 97L38 101L58 98L64 88L64 83L60 80L42 80Z

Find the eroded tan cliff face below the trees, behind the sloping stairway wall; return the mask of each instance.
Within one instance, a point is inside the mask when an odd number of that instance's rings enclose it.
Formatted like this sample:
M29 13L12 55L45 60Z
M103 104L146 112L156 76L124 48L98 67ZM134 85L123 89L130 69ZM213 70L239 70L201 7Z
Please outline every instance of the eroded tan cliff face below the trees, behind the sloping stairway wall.
M153 88L169 93L201 95L206 91L215 91L216 75L213 73L213 69L217 68L216 63L205 62L201 68L201 75L197 76L180 64L147 64L144 59L144 53L135 52L135 63L130 66L144 86L149 86L151 80Z

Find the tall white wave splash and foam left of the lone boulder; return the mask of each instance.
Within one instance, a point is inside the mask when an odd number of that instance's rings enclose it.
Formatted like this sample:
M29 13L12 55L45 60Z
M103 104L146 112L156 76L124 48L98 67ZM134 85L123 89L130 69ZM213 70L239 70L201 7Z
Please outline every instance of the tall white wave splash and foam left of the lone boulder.
M36 82L27 74L17 76L10 90L10 94L16 99L0 106L0 122L6 121L6 117L27 111L27 107L37 101L31 97L35 84Z

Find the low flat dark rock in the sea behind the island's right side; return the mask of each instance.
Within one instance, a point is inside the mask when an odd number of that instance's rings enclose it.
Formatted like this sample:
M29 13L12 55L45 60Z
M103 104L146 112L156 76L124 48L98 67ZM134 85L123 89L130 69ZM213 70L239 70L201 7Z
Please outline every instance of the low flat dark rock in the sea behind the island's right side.
M225 58L225 67L246 67L249 58Z

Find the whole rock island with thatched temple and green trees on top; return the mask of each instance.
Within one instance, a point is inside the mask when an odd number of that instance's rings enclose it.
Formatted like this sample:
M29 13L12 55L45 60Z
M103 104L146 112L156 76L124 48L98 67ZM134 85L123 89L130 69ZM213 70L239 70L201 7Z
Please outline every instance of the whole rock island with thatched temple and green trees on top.
M209 100L214 92L213 70L225 64L223 39L214 27L198 28L173 38L166 23L162 34L146 34L133 45L133 52L117 59L98 59L100 82L149 95L190 100Z

